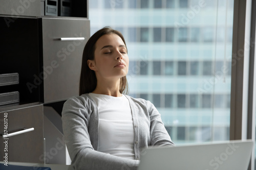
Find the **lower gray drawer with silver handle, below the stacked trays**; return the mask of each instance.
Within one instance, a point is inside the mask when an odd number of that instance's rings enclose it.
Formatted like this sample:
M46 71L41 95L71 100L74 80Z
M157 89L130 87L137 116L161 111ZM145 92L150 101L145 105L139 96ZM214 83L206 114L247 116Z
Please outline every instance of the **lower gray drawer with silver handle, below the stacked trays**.
M8 155L8 162L43 163L43 106L35 105L26 108L0 112L0 133L8 134L23 129L33 131L3 138L0 137L0 157ZM7 141L6 143L4 143ZM4 144L3 144L4 143Z

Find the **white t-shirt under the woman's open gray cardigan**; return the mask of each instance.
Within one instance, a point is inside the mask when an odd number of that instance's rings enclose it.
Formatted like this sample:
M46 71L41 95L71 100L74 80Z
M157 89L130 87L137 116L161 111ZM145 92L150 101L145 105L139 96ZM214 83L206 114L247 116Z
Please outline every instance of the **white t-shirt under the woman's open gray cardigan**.
M129 100L89 93L99 111L99 151L135 159L134 126Z

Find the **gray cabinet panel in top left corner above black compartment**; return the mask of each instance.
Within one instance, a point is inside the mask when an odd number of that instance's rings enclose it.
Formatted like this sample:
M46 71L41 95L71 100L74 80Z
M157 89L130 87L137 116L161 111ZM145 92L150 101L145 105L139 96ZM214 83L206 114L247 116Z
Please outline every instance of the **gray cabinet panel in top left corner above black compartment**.
M0 0L0 14L41 16L40 0Z

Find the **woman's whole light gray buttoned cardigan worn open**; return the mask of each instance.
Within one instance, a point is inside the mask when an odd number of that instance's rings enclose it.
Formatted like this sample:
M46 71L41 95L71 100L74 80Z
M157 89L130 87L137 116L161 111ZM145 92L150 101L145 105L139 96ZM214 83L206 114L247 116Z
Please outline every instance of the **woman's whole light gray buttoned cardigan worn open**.
M132 109L137 160L98 152L98 109L90 96L83 94L69 99L62 110L63 133L72 160L69 169L137 169L142 149L149 145L174 146L154 105L125 96Z

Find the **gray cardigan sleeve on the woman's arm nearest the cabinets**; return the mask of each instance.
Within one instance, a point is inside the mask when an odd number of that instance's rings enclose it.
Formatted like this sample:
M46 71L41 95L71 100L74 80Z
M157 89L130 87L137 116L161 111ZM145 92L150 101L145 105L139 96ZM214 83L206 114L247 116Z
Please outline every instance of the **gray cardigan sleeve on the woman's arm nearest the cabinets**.
M63 105L63 134L72 160L69 168L137 169L139 162L136 160L101 153L93 148L89 135L91 112L90 102L82 101L81 97L71 98Z

